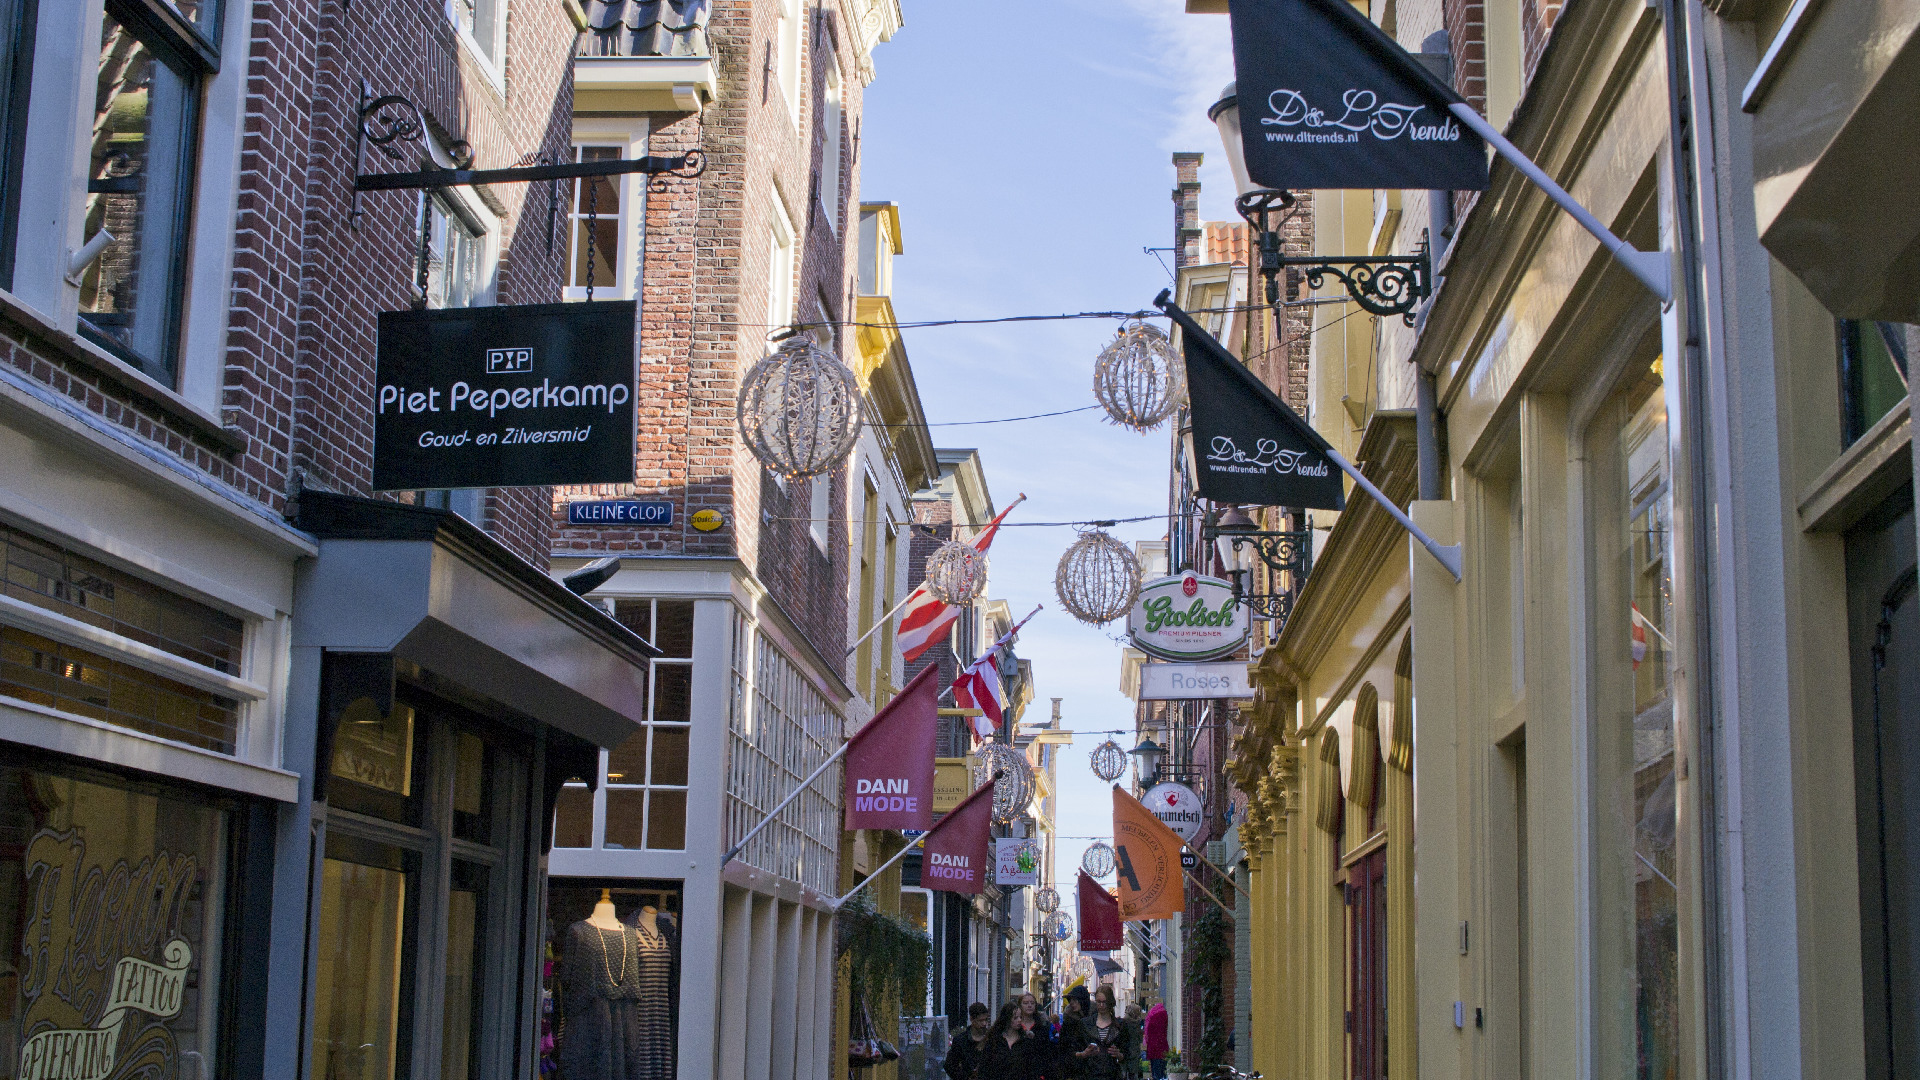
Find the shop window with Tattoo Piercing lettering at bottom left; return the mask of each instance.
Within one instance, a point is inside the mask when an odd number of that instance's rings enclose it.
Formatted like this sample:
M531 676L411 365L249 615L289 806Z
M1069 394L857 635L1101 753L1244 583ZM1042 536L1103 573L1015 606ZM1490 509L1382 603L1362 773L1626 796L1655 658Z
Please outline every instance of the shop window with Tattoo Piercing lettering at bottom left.
M0 1070L225 1076L230 807L21 761L0 765Z

